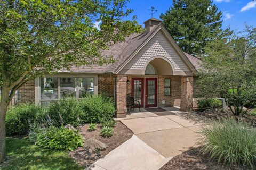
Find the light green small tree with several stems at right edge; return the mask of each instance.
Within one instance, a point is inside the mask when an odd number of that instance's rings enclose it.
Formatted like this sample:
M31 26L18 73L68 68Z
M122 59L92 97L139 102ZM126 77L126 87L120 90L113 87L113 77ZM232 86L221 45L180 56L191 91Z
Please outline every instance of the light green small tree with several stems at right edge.
M256 104L256 28L214 40L205 52L199 95L223 97L234 115L245 114Z

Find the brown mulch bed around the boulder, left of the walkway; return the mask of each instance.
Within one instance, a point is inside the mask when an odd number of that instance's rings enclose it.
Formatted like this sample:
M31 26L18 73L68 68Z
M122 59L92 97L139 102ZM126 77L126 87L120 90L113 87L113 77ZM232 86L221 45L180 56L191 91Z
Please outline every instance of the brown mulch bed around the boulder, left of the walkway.
M97 139L108 145L108 148L103 151L89 152L85 151L83 147L79 147L74 151L69 152L69 155L76 160L79 164L87 167L98 159L107 155L110 151L130 139L133 135L132 131L128 129L123 123L117 121L114 126L113 135L109 138L103 138L100 135L101 126L98 125L95 131L87 131L88 124L82 126L80 134L87 140L90 138Z

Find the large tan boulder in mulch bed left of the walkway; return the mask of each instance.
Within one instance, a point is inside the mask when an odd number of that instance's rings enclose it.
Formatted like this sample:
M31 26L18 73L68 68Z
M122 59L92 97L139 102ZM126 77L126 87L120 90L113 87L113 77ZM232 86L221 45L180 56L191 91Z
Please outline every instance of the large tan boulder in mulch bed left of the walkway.
M105 143L102 143L101 141L97 139L88 139L84 142L84 149L89 150L90 152L95 151L97 149L99 150L105 150L107 149L108 145Z

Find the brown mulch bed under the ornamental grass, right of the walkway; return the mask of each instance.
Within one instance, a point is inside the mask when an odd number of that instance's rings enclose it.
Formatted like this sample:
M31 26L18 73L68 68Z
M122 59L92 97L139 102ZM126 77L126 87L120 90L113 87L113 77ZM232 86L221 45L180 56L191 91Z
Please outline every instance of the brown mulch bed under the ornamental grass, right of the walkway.
M160 170L249 170L251 168L225 167L217 162L207 159L205 156L199 155L200 148L194 148L182 154L175 156L166 163Z

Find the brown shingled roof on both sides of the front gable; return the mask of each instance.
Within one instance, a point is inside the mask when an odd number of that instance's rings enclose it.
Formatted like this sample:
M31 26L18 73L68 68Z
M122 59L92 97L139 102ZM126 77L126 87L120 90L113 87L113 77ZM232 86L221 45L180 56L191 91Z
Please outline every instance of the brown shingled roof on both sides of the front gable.
M103 66L80 66L80 67L73 67L72 71L74 73L115 73L115 71L126 61L129 57L143 44L151 35L161 27L162 23L159 23L150 31L146 31L141 34L132 34L127 37L123 42L117 43L114 45L109 46L109 50L104 50L102 55L110 56L116 59L116 62L113 64L106 64ZM185 53L188 60L191 64L194 65L195 69L198 70L200 68L200 60L196 57L193 57L187 53Z

